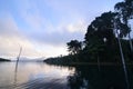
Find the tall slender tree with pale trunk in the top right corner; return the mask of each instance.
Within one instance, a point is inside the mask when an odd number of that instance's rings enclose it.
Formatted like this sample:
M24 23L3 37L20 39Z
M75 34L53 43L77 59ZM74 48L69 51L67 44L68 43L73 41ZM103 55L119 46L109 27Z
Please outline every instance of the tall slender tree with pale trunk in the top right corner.
M132 40L131 40L131 28L129 26L129 20L132 19L133 17L133 0L125 0L123 2L119 2L115 4L114 7L115 11L119 13L119 17L121 18L121 20L123 21L123 23L125 23L129 29L127 30L127 37L129 37L129 41L130 41L130 48L131 51L133 53L133 44L132 44Z

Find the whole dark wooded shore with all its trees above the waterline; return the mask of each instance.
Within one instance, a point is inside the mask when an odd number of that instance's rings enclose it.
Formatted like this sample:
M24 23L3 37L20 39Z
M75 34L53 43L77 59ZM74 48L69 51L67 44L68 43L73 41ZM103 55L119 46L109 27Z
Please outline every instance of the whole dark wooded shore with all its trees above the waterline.
M96 17L88 27L84 41L68 42L69 56L44 60L54 65L82 62L131 62L133 40L129 20L133 18L133 0L124 0L109 11ZM122 59L122 60L121 60Z

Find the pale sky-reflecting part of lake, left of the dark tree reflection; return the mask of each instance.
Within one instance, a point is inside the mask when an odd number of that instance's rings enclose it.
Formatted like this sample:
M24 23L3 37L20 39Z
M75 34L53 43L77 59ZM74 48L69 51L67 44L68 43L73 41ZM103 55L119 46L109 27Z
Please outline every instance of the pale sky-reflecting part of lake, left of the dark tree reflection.
M0 62L0 89L69 89L68 76L74 68L43 62Z

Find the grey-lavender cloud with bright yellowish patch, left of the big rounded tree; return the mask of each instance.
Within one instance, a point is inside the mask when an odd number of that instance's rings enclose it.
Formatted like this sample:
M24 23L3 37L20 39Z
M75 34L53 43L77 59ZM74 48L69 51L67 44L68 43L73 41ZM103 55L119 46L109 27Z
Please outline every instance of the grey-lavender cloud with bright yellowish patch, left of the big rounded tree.
M78 39L82 41L84 39L84 34L88 28L88 22L80 20L78 22L68 23L68 24L59 24L54 27L48 27L44 30L32 31L27 34L27 37L33 41L47 43L50 46L65 46L72 39ZM48 31L50 30L50 31Z

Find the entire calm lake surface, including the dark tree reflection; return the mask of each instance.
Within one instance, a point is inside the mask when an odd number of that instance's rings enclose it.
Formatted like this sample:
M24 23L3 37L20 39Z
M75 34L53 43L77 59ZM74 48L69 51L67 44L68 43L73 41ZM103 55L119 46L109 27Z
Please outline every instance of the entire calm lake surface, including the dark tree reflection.
M133 89L133 67L127 67ZM122 66L59 67L43 62L0 62L0 89L127 89Z

